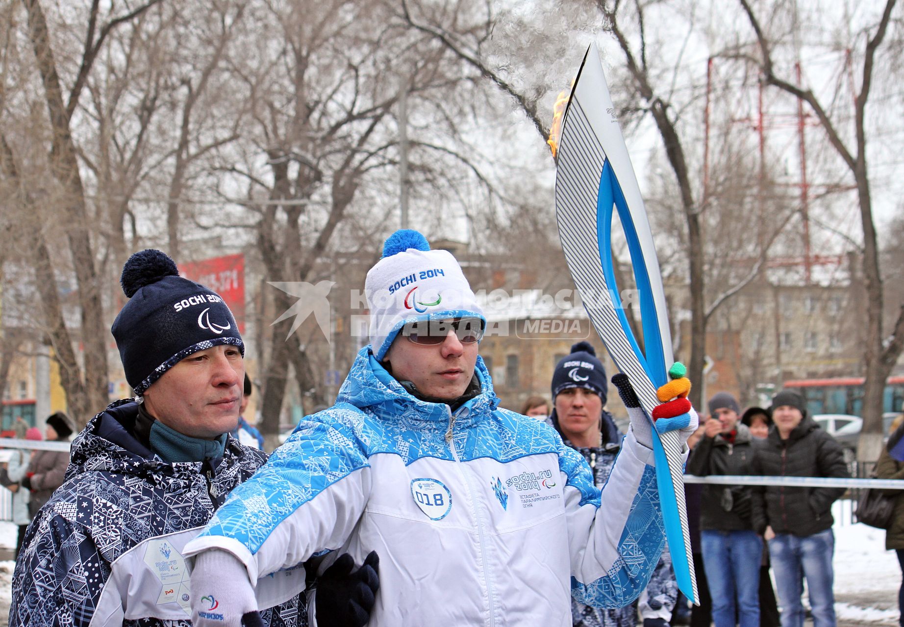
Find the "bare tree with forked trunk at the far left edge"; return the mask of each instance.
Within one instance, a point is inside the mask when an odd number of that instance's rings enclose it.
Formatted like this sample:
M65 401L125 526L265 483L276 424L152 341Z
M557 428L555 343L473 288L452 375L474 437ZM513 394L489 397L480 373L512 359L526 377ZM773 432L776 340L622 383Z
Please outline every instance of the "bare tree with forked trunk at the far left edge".
M92 242L93 220L86 202L85 189L80 173L79 153L73 140L72 119L84 91L91 68L97 60L108 34L119 25L128 23L145 12L159 0L104 18L99 2L89 7L86 16L80 57L76 57L77 70L71 79L68 93L64 92L61 72L55 57L52 33L42 5L38 0L23 0L26 14L26 36L33 52L35 76L42 86L42 100L46 108L43 121L47 129L46 175L55 182L52 199L59 204L58 220L66 225L66 240L71 256L71 267L78 285L80 308L80 342L83 346L83 366L73 349L73 338L66 326L60 297L57 293L57 277L52 262L52 251L40 220L24 220L24 239L33 252L35 285L55 359L61 365L61 383L66 390L71 412L84 423L91 411L107 404L107 351L104 329L104 307L96 266L95 247ZM12 18L12 12L7 12ZM7 48L7 51L10 49ZM38 139L34 136L33 139ZM38 139L43 143L42 139ZM12 182L18 193L19 206L36 207L33 180L23 178L23 163L17 158L13 144L2 137L3 174ZM46 201L43 198L42 201ZM40 212L37 214L40 215Z

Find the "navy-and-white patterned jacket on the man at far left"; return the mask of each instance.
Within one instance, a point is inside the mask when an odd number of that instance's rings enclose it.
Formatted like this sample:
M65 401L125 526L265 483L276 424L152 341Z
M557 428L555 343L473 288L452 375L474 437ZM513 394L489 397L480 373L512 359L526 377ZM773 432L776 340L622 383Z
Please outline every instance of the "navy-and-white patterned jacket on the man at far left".
M10 627L189 627L183 549L226 495L266 460L230 437L221 458L165 463L132 435L138 406L117 401L72 443L61 487L25 534ZM304 569L259 594L271 627L306 624Z

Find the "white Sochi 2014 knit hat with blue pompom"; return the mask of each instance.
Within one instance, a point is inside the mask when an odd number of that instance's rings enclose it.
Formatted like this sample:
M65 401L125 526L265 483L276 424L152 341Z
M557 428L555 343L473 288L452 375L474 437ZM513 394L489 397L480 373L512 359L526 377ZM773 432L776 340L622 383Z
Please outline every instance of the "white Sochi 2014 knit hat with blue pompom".
M364 295L371 310L371 351L378 360L406 323L462 317L486 322L456 258L447 250L431 250L412 229L386 239L383 256L367 273Z

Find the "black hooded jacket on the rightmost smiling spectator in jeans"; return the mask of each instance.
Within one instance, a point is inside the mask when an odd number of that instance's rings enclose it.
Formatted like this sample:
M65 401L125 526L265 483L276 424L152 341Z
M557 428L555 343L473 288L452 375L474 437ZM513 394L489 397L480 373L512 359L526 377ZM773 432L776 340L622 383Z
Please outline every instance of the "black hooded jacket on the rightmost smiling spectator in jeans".
M848 478L842 447L806 414L786 440L777 426L754 456L751 474L779 477ZM832 528L832 503L844 488L798 488L782 485L754 486L753 529L763 533L767 525L776 533L812 536Z

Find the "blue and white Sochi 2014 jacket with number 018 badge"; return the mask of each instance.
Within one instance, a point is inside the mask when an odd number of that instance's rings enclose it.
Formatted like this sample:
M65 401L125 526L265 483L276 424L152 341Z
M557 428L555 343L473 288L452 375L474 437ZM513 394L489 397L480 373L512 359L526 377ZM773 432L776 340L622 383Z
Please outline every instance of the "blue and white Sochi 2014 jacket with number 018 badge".
M380 555L370 625L570 627L571 596L619 607L664 545L653 452L627 435L600 492L551 426L482 391L454 413L365 347L337 403L306 416L185 548L263 581L323 549Z

